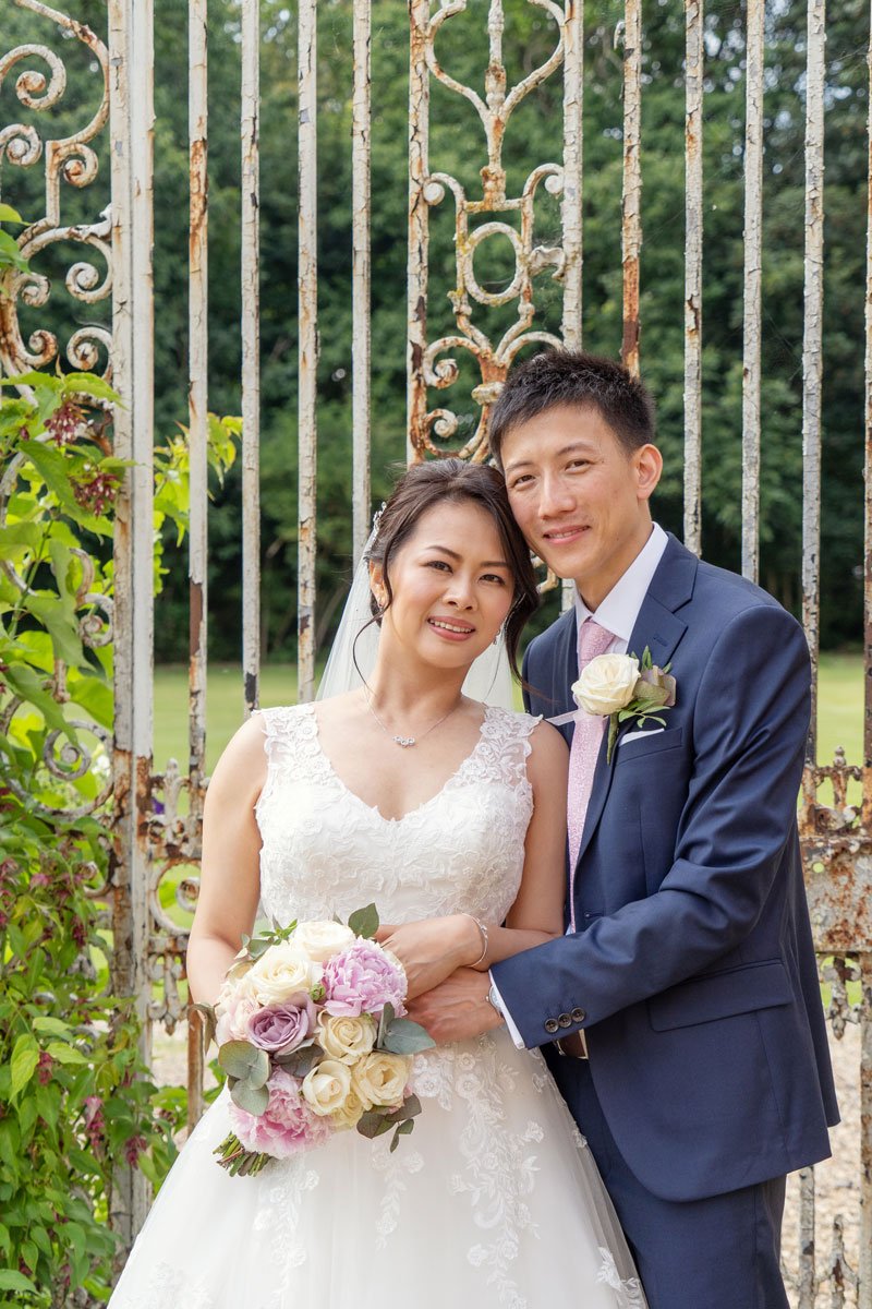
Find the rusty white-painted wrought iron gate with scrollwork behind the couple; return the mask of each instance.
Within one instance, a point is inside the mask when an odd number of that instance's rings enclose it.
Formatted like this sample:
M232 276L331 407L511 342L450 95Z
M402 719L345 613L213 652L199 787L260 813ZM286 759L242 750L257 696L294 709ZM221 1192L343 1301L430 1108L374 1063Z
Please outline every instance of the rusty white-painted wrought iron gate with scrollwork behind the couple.
M435 52L439 34L467 10L477 10L486 27L489 60L484 97L455 81ZM516 0L518 4L522 0ZM488 408L518 352L532 342L582 340L582 144L584 39L580 0L527 0L553 25L554 46L541 67L509 85L503 59L505 13L502 0L409 0L409 226L408 226L408 458L442 452L458 432L458 415L431 407L434 391L455 384L458 352L468 352L480 372L472 391L478 421L463 444L472 459L488 456ZM116 453L131 459L119 504L115 541L115 689L116 721L112 778L116 808L114 867L114 975L115 986L139 999L145 1043L153 1022L173 1028L186 1017L179 994L183 977L184 932L161 908L158 889L167 870L199 856L205 789L205 672L207 672L207 363L208 363L208 168L207 0L188 0L190 94L190 757L187 772L170 762L154 771L153 720L153 597L152 597L152 493L153 493L153 0L107 0L107 30L95 34L75 16L41 0L0 0L31 17L31 37L4 51L0 42L0 86L17 75L17 98L26 122L0 124L0 182L4 199L14 202L16 170L44 169L44 215L21 236L20 245L38 267L39 253L52 242L75 241L97 251L106 275L89 262L69 270L67 287L80 301L98 302L111 296L111 331L80 330L67 343L67 360L78 368L99 368L101 350L109 353L114 385L124 404L115 414ZM69 7L69 5L67 5ZM369 0L350 5L354 43L353 84L353 531L360 551L370 513L370 48L373 9ZM685 541L701 545L702 456L702 242L703 242L703 0L685 0L686 47L684 80L685 120ZM872 17L872 16L871 16ZM259 51L258 0L239 0L241 18L241 151L242 151L242 412L243 412L243 698L248 711L258 704L259 682ZM749 577L758 571L760 453L761 453L761 257L762 160L765 88L763 0L746 0L745 31L745 213L744 213L744 323L743 323L743 547L741 567ZM0 35L1 35L0 25ZM64 94L65 71L56 47L75 39L93 55L94 75L103 94L90 122L63 140L46 139L39 114ZM821 487L821 340L824 242L824 59L825 0L808 0L805 73L805 280L803 355L803 619L817 668L820 630L820 487ZM298 662L299 695L312 695L315 673L315 560L316 560L316 0L298 4L298 181L299 181L299 300L298 300L298 406L299 406L299 569ZM641 357L639 267L642 209L642 3L625 0L616 34L622 60L624 203L621 224L624 334L622 355L637 370ZM61 47L63 48L63 47ZM48 76L39 71L48 69ZM510 194L502 145L509 120L522 101L546 79L562 79L562 131L554 126L557 162L541 161L519 194ZM481 194L475 198L454 177L431 169L429 158L430 90L439 82L464 97L475 109L485 149L481 152ZM872 97L871 97L872 98ZM29 117L27 117L29 115ZM872 178L872 120L869 123L869 177ZM94 213L88 224L64 221L71 187L85 188L98 174L98 145L109 156L111 207ZM859 179L858 179L859 183ZM543 243L536 234L536 199L540 188L560 198L561 238ZM455 327L431 339L428 330L428 241L430 213L454 206L456 284L451 293ZM811 1309L826 1300L833 1306L852 1301L872 1309L872 186L869 188L869 246L865 296L865 720L864 757L848 763L837 755L817 762L816 730L809 738L803 788L801 826L807 881L816 946L824 978L831 991L830 1020L835 1038L846 1024L860 1029L860 1147L856 1194L859 1217L837 1217L833 1255L824 1258L814 1244L814 1174L801 1175L799 1258L790 1270L797 1304ZM501 236L511 242L514 276L502 291L484 289L475 272L476 250ZM92 254L88 254L92 258ZM562 329L536 329L536 279L549 272L562 293ZM10 275L0 298L0 364L13 374L46 367L59 357L59 344L48 331L24 340L18 308L39 306L50 287L39 276ZM499 339L480 326L485 308L516 305L516 318ZM0 505L1 509L1 505ZM158 761L162 764L163 761ZM848 804L850 783L860 783L860 805ZM831 787L833 804L818 798ZM187 796L187 812L179 797ZM156 806L159 797L162 804ZM182 894L195 888L183 884ZM153 983L161 983L153 999ZM188 1025L190 1103L196 1119L203 1102L203 1051L196 1016ZM116 1192L114 1221L129 1237L140 1225L146 1191L139 1173L127 1174ZM856 1267L843 1253L845 1223L859 1224ZM847 1300L846 1300L847 1297Z

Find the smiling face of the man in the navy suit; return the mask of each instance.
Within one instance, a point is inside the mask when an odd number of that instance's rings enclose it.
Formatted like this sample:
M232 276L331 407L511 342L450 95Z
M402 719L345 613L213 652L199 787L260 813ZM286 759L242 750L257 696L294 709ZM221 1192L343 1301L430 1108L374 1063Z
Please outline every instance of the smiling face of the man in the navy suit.
M557 404L510 428L501 454L527 542L597 609L651 531L658 449L630 452L597 408Z

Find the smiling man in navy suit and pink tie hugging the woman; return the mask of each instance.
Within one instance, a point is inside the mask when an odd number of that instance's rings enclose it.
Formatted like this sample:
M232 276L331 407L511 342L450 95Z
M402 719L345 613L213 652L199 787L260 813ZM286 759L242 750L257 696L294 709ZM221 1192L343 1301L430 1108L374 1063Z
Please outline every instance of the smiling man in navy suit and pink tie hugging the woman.
M579 666L646 649L676 702L622 724L611 761L605 719L561 726L567 933L494 966L490 1001L545 1047L651 1309L786 1309L784 1175L838 1121L796 827L808 651L652 524L654 436L642 384L583 353L529 360L492 414L515 517L575 583L527 652L527 707L563 715ZM486 979L451 983L416 1017L438 1039L493 1025Z

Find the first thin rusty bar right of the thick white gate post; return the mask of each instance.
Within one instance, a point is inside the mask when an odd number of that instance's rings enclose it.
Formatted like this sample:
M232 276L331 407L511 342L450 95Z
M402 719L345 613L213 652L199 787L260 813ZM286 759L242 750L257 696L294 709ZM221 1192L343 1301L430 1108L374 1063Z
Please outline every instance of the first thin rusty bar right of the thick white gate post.
M208 657L209 440L209 174L208 0L188 7L188 797L190 823L203 818ZM203 1114L200 1014L188 1009L188 1128Z

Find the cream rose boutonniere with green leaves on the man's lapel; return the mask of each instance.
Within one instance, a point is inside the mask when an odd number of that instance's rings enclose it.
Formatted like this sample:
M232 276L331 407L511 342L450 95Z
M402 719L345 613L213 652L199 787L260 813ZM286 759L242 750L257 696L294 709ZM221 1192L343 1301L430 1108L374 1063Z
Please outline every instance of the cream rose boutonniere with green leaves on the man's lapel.
M647 721L665 724L658 715L675 704L676 682L669 668L669 664L658 668L646 645L641 664L635 654L597 654L578 682L573 682L573 698L579 709L597 717L608 715L607 763L612 762L620 729L630 719L639 726ZM655 709L658 712L652 712Z

